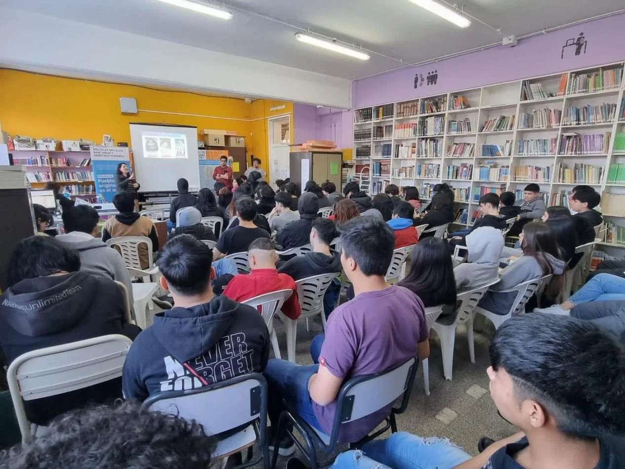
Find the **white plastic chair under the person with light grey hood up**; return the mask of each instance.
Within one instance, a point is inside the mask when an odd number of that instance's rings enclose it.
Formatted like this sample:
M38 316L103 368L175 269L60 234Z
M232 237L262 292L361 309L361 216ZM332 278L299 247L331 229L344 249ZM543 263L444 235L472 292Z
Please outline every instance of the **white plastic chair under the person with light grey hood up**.
M456 329L462 324L466 324L467 338L469 339L469 356L471 357L471 363L475 363L475 345L473 343L473 309L477 305L477 302L484 296L486 290L492 285L495 285L499 281L499 278L486 283L485 285L478 286L472 290L463 291L457 296L458 300L462 303L457 308L456 319L450 325L444 325L437 321L432 324L434 329L441 339L441 352L442 352L442 370L445 375L445 379L451 381L452 369L454 364L454 344L456 343Z

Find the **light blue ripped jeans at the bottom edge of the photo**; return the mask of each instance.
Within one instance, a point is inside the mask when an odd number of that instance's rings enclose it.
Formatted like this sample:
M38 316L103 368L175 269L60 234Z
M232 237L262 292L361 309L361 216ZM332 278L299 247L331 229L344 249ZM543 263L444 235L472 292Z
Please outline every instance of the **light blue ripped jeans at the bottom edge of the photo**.
M404 431L373 440L362 451L337 456L333 469L451 469L471 459L461 448L441 438L421 438Z

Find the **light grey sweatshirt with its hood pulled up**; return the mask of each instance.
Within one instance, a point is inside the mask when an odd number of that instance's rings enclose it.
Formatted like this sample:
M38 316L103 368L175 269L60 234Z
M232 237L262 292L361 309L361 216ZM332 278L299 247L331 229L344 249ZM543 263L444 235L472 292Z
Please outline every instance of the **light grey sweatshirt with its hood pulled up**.
M474 229L465 238L469 257L454 269L456 288L470 290L497 278L499 258L504 247L501 230L492 226Z

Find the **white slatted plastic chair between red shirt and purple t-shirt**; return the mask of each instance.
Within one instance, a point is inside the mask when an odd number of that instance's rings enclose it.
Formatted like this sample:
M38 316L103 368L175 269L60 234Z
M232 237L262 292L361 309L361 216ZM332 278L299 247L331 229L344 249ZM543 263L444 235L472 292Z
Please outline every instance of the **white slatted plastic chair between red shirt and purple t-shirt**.
M297 300L302 309L299 319L306 319L306 330L308 330L308 318L321 315L323 330L326 330L326 313L323 309L323 296L332 284L332 280L339 276L338 273L314 275L297 280ZM289 361L295 363L295 342L297 337L297 320L287 318L284 314L279 315L284 323L286 331L286 351Z

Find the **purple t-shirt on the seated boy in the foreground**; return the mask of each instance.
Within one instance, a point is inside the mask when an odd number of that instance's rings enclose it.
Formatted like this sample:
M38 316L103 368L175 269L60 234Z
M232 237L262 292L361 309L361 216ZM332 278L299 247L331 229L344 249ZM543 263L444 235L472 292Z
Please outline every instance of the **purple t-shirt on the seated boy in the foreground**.
M332 311L326 324L319 366L343 380L394 368L417 355L417 342L429 331L423 303L403 286L361 293ZM332 431L336 401L314 413L326 432ZM360 440L386 418L391 405L358 420L343 423L339 441Z

